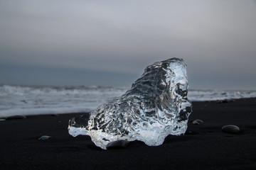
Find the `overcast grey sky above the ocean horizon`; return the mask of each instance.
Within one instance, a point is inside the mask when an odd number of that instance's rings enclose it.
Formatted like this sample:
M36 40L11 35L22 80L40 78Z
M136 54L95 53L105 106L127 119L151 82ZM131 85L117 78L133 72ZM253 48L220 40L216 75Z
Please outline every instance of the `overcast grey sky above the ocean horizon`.
M252 0L0 0L0 84L131 86L180 57L191 89L256 90Z

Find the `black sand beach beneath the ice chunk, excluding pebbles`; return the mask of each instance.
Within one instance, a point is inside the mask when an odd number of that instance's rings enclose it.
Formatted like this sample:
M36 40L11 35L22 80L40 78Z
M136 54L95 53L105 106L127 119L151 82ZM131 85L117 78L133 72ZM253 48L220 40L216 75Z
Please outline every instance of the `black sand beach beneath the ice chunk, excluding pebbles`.
M159 147L100 149L90 137L68 134L68 120L78 115L0 121L0 169L256 169L256 98L193 102L186 134ZM193 125L196 119L204 123ZM223 125L241 132L224 133Z

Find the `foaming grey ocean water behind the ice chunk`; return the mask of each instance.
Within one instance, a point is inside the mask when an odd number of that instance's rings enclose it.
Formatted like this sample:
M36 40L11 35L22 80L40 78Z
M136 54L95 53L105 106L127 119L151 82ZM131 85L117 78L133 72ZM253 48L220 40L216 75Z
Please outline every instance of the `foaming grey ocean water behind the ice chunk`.
M122 96L128 88L104 86L0 85L0 118L90 112L100 104ZM256 91L188 90L191 101L216 101L256 97Z

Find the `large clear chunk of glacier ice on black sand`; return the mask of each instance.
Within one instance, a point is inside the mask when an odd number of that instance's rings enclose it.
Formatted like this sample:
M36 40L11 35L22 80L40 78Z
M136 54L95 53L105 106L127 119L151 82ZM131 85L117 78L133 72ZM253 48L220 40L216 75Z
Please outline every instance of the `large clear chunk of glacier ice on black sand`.
M146 67L124 95L90 114L72 118L68 131L74 137L89 135L102 149L134 140L149 146L161 145L166 136L186 132L192 111L187 88L182 59L156 62Z

